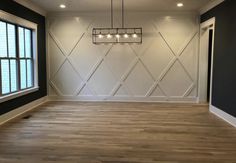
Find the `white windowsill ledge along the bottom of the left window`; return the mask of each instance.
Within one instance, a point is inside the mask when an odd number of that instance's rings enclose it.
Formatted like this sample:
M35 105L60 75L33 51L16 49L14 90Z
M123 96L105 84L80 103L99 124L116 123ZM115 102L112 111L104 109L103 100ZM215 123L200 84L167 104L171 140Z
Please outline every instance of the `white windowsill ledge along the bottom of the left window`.
M26 89L24 91L20 91L20 92L16 92L16 93L13 93L13 94L10 94L10 95L0 97L0 103L12 100L12 99L20 97L20 96L27 95L29 93L36 92L38 90L39 90L39 87L34 87L34 88Z

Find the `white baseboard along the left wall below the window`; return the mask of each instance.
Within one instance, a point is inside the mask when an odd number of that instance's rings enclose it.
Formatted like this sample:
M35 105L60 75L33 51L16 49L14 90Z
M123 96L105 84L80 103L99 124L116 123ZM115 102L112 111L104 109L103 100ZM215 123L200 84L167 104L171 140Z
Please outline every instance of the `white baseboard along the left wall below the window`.
M9 122L12 119L15 119L15 118L23 115L24 113L26 113L28 111L35 109L39 105L42 105L43 103L47 102L47 100L48 100L48 98L47 98L47 96L45 96L45 97L35 100L29 104L21 106L15 110L12 110L6 114L1 115L0 116L0 126L3 125L4 123Z

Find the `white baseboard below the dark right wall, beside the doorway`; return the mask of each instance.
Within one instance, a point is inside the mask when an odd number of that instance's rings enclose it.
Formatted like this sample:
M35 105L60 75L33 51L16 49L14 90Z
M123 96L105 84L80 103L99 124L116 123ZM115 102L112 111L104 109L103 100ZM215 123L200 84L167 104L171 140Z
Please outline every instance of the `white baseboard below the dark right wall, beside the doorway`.
M236 118L228 113L218 109L217 107L210 105L210 112L215 114L217 117L223 119L224 121L228 122L232 126L236 127Z

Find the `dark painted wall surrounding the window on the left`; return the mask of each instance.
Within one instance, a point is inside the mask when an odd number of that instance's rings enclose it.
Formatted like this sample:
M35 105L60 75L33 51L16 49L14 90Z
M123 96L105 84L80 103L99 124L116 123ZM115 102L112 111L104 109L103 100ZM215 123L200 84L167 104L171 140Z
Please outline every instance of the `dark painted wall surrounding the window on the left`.
M45 37L45 17L13 0L0 0L0 10L16 15L23 19L38 24L38 72L39 72L39 91L0 103L0 115L14 110L20 106L37 100L47 95L46 84L46 37Z

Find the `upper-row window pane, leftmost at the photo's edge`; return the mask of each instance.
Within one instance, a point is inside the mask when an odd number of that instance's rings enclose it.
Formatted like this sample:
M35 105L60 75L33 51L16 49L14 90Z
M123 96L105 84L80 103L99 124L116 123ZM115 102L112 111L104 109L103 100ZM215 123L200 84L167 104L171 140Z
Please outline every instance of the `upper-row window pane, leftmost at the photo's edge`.
M6 23L0 21L0 57L7 57L7 28Z

